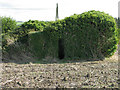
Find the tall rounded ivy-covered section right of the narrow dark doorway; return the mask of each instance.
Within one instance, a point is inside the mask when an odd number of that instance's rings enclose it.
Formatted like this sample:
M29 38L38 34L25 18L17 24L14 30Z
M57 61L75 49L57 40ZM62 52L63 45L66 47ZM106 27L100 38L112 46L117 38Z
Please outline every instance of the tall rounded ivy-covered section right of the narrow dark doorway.
M101 59L114 54L118 31L112 16L92 10L68 17L65 21L67 57Z

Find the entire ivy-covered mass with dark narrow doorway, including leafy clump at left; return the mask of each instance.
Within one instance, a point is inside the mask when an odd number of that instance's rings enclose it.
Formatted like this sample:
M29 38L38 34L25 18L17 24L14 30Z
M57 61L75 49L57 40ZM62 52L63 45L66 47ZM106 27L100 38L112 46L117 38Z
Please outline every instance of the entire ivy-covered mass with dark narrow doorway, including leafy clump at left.
M40 59L60 55L65 59L104 59L114 54L118 44L115 19L94 10L55 22L29 20L17 27L12 36L27 43Z

